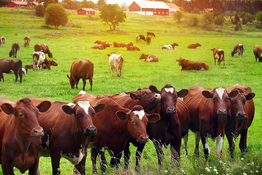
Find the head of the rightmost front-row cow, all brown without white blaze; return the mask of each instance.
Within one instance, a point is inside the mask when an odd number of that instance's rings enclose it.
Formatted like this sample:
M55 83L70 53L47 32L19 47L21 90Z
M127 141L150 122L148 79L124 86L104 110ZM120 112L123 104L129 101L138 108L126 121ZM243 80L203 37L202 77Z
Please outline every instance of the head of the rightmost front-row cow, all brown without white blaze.
M244 92L240 88L234 88L233 90L238 91L238 95L230 99L230 111L231 116L235 118L245 118L246 113L244 111L247 100L251 100L255 97L255 93L250 92L244 95Z

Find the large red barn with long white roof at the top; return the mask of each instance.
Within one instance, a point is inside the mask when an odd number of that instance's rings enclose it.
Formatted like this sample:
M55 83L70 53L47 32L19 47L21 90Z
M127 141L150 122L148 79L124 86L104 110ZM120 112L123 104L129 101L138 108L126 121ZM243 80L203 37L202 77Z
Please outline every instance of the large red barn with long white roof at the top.
M135 0L128 6L128 11L142 15L169 16L169 6L160 1Z

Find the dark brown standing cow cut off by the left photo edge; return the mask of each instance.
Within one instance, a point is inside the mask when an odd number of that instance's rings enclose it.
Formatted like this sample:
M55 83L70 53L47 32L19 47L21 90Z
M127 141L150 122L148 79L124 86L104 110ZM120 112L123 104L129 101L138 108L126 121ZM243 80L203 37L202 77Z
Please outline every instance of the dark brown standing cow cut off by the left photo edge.
M1 78L4 82L3 73L15 74L15 82L17 82L19 75L20 83L22 83L22 61L18 59L0 59L0 82Z

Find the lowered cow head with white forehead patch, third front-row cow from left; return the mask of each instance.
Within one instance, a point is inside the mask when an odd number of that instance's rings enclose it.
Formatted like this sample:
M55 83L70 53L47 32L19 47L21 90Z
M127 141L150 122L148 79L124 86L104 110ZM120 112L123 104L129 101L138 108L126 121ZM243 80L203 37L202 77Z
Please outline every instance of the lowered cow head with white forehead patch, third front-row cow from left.
M128 120L128 132L139 143L148 142L148 135L146 134L148 122L153 123L160 120L160 115L146 114L142 106L134 106L128 113L117 111L116 115L121 120Z

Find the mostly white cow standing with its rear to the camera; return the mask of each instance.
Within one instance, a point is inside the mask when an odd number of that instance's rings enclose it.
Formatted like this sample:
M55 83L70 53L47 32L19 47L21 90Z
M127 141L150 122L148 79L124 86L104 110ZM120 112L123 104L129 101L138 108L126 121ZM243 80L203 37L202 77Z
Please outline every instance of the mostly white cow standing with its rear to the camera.
M112 76L114 76L114 74L113 74L114 69L116 69L117 76L118 77L121 76L123 61L124 61L124 58L122 57L122 54L116 55L115 53L112 53L111 55L109 55L109 66L110 66L111 71L112 71Z

